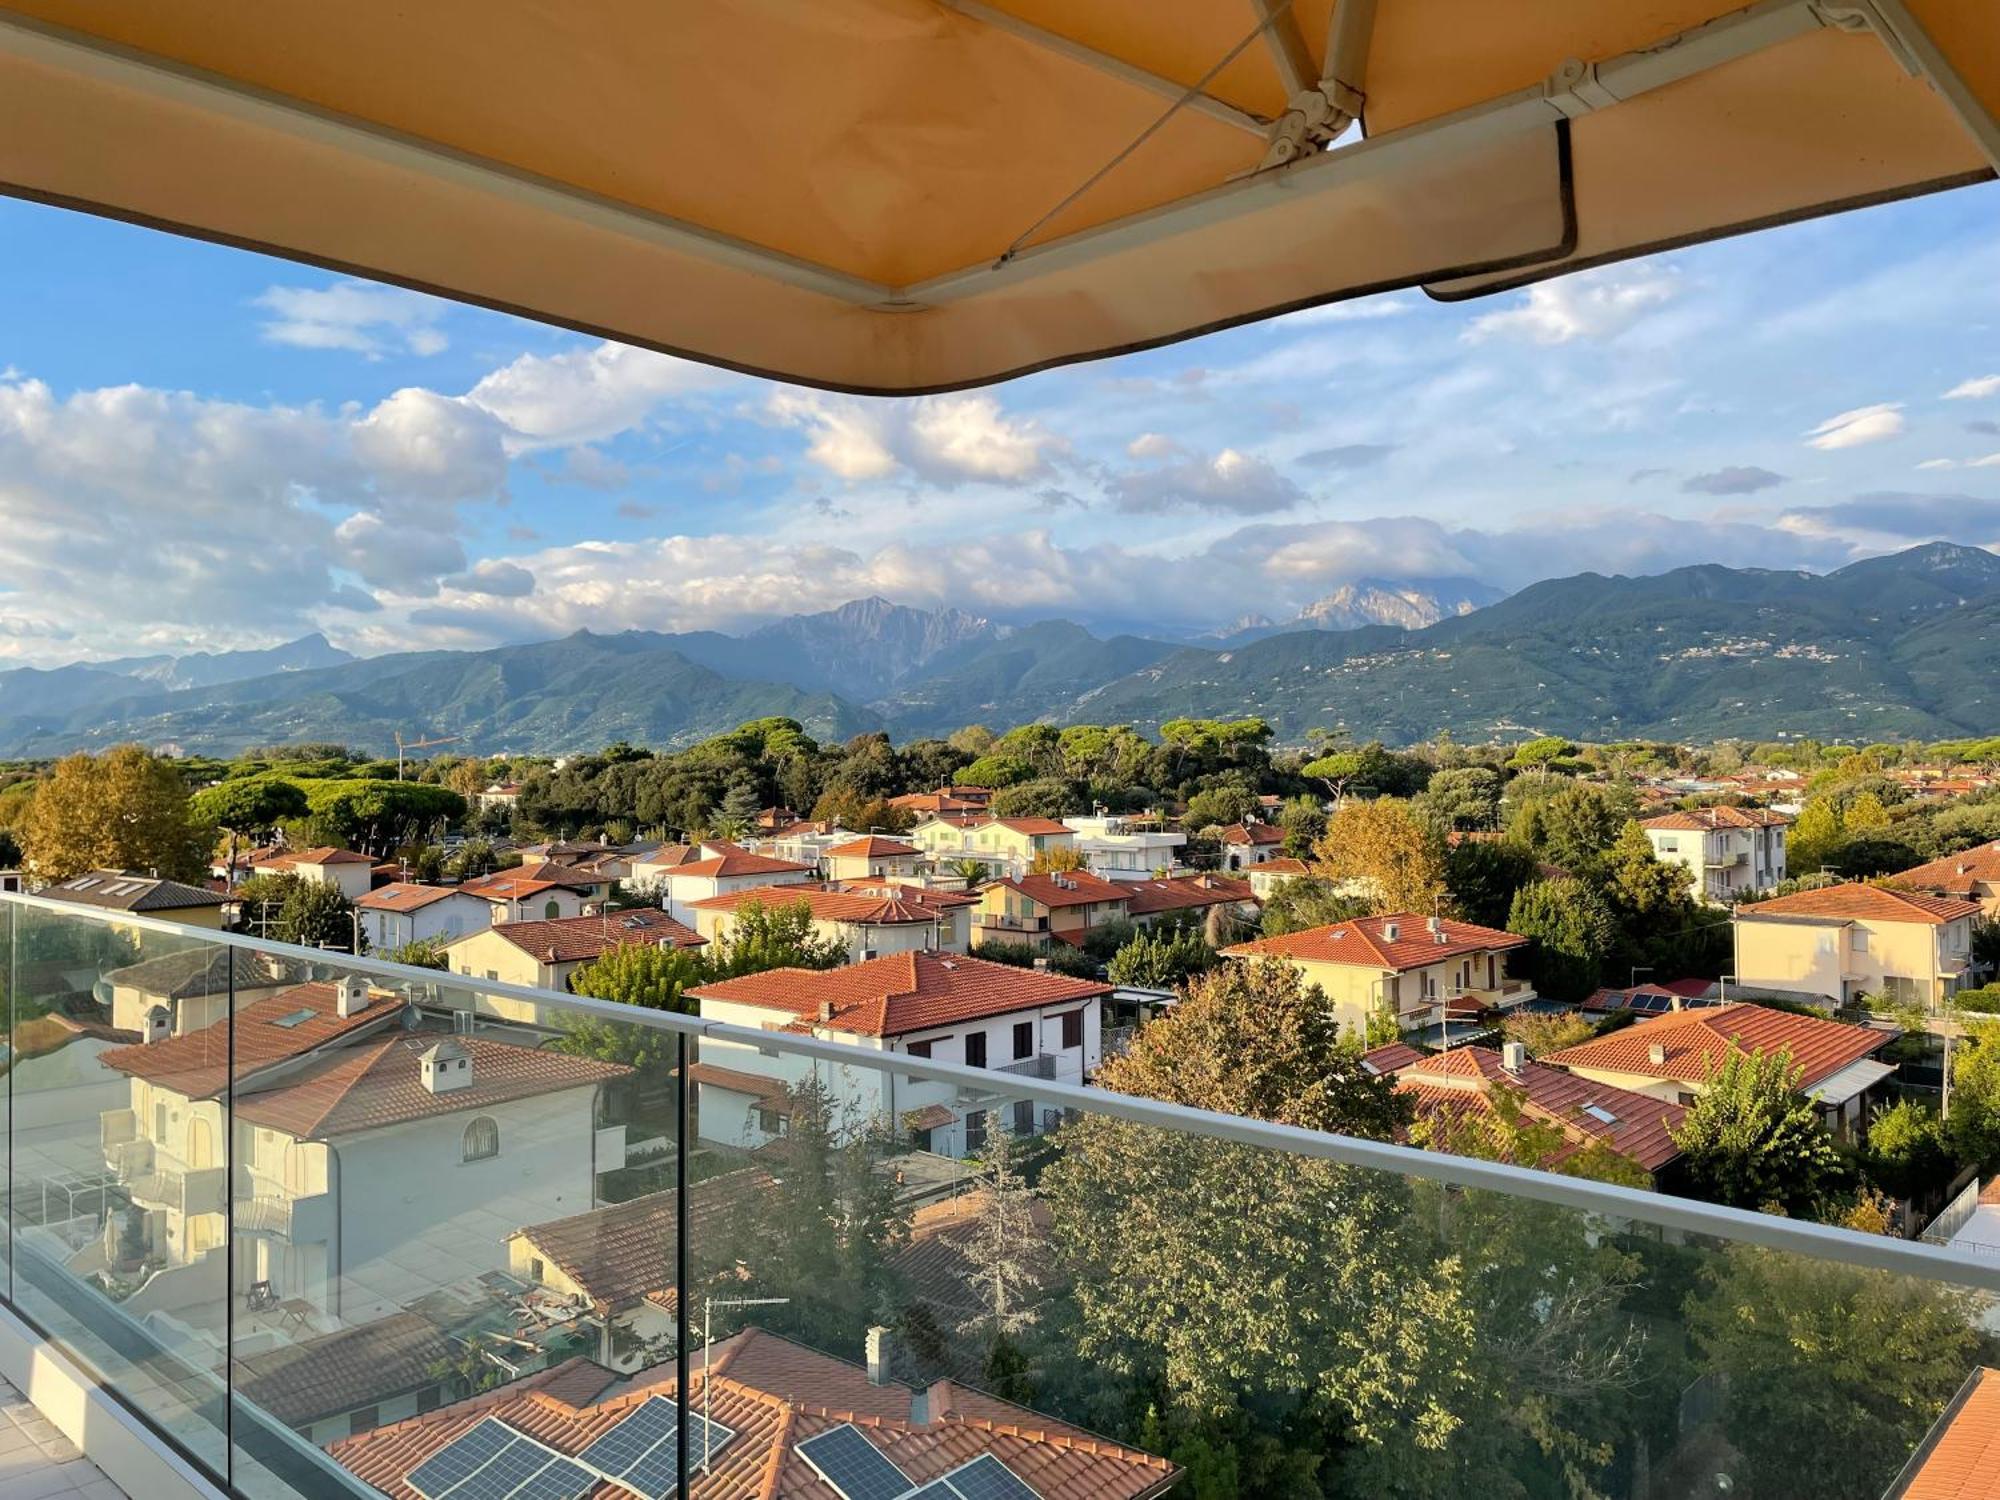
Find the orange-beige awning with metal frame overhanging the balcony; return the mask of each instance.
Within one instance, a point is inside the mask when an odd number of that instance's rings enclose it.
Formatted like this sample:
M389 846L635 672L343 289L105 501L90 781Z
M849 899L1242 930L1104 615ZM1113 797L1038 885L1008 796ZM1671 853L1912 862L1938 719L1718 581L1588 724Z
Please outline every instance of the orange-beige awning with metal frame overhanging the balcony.
M4 192L880 394L1976 182L1996 112L1988 0L0 4Z

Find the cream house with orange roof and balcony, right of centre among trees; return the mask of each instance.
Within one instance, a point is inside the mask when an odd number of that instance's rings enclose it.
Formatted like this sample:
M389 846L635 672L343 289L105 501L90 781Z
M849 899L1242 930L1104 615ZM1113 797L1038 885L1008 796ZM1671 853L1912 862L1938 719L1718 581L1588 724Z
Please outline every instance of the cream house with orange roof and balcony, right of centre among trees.
M1412 1032L1534 1000L1534 986L1506 972L1508 954L1526 944L1514 932L1398 912L1240 942L1222 956L1284 960L1326 992L1344 1030L1366 1036L1374 1014Z

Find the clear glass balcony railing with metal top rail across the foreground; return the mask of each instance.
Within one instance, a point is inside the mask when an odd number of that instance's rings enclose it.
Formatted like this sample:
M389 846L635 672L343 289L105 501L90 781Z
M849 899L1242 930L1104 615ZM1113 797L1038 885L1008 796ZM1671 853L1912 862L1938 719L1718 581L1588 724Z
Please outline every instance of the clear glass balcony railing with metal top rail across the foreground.
M1994 1256L808 1024L16 896L0 980L0 1292L244 1496L1874 1500L2000 1362Z

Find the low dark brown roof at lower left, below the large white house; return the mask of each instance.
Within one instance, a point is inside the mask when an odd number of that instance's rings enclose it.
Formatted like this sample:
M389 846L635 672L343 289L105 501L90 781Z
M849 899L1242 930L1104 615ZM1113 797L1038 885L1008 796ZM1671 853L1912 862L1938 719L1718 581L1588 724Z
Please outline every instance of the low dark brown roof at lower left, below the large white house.
M286 1426L374 1406L438 1384L430 1366L456 1360L458 1346L418 1312L342 1328L236 1360L236 1394Z

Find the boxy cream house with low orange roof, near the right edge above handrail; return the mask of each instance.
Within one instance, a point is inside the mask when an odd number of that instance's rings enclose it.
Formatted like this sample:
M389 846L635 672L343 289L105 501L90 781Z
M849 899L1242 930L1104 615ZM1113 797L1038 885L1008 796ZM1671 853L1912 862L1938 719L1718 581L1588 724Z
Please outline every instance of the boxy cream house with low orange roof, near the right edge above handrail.
M1884 996L1934 1010L1968 984L1980 904L1886 886L1826 886L1738 906L1736 980L1848 1002Z

